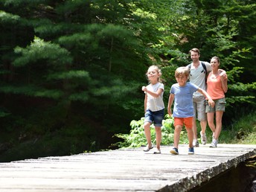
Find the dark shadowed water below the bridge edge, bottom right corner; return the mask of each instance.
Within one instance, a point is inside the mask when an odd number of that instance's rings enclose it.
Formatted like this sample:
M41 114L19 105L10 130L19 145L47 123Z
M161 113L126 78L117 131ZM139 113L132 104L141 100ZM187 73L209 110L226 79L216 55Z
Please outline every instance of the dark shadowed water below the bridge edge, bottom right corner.
M256 192L256 156L190 192Z

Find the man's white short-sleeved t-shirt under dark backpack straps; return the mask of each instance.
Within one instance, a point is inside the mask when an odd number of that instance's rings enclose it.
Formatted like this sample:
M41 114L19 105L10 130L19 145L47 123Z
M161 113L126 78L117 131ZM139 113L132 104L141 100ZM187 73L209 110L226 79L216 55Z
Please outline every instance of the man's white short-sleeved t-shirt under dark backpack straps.
M208 62L205 63L207 73L211 71L211 64ZM200 61L200 64L197 68L191 63L191 74L189 77L189 81L196 86L199 86L199 88L206 90L206 84L205 84L205 69L202 67L202 61ZM202 95L199 92L194 92L193 95Z

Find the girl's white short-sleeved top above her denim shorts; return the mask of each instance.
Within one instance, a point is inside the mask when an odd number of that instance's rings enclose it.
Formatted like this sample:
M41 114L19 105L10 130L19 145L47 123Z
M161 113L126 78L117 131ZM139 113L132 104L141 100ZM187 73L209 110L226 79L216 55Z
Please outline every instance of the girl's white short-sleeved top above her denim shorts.
M151 92L157 92L158 89L163 89L163 92L161 92L161 95L159 97L153 97L152 95L147 93L147 109L150 109L152 112L160 111L161 109L164 109L164 101L163 101L163 95L164 95L164 84L163 83L156 83L155 85L149 84L147 86L147 90L150 90Z

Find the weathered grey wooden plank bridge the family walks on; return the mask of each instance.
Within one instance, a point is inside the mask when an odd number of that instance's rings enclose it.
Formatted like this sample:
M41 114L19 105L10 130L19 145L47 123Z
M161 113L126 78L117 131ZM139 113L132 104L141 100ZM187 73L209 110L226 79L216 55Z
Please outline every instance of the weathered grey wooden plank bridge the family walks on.
M256 145L142 147L0 163L0 191L189 191L256 155Z

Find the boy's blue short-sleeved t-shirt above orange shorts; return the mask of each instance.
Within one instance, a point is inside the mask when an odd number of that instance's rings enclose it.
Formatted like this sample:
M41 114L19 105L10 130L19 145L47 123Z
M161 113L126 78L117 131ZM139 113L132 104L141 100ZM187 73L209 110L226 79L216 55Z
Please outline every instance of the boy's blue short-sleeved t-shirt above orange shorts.
M173 117L189 118L193 117L193 92L199 89L193 83L186 83L185 86L173 84L170 88L170 94L174 94Z

